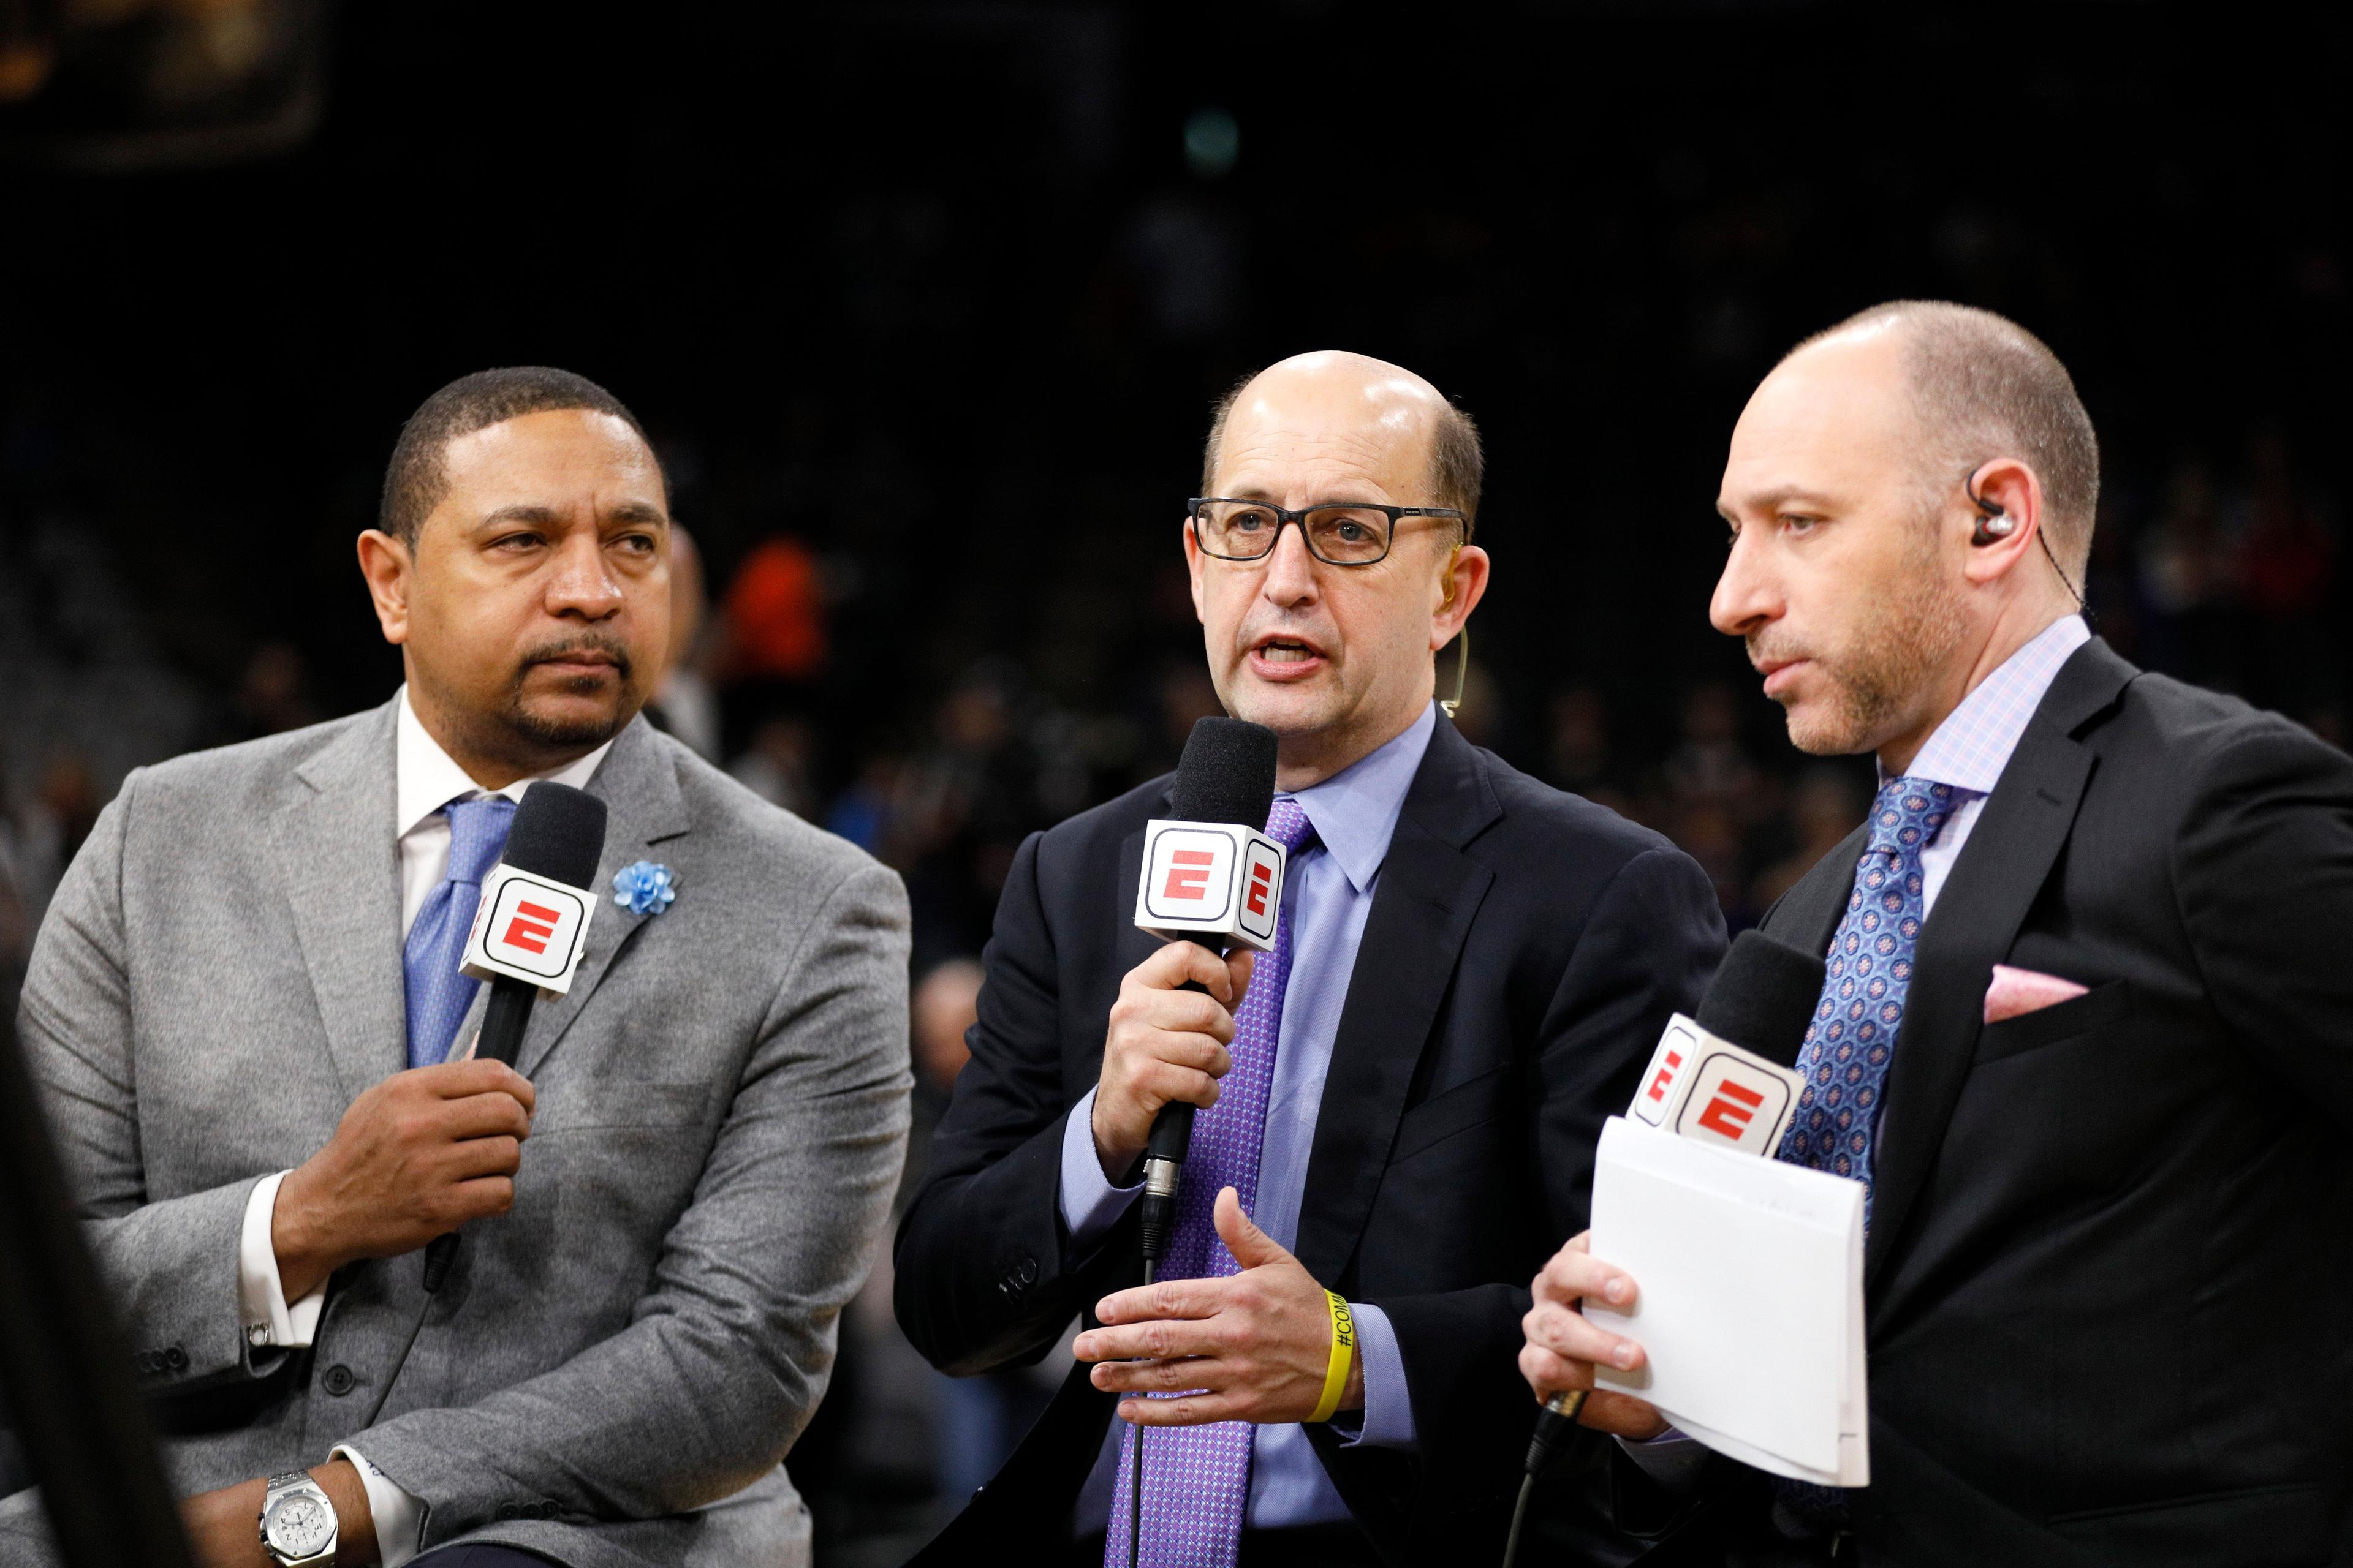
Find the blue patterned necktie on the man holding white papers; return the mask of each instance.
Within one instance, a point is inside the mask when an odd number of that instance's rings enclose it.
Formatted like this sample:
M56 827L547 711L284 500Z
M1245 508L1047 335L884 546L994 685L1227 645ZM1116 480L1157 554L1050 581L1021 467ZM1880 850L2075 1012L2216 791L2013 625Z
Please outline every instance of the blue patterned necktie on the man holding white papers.
M1937 842L1960 806L1953 785L1927 778L1894 778L1871 802L1871 844L1854 863L1854 891L1831 936L1821 1001L1805 1025L1798 1072L1805 1091L1798 1117L1781 1138L1781 1159L1833 1171L1864 1182L1864 1229L1871 1229L1871 1173L1878 1143L1880 1098L1904 1030L1904 997L1911 994L1913 954L1927 922L1920 851ZM1807 1533L1831 1533L1847 1523L1847 1493L1835 1486L1774 1479L1781 1507Z

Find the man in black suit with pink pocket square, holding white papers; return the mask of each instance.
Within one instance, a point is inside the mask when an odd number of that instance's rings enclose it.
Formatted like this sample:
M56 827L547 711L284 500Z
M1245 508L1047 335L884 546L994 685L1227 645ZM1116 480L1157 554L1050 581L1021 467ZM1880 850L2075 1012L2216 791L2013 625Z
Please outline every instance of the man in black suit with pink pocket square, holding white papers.
M1871 1185L1871 1486L1774 1483L1595 1399L1661 1561L2327 1563L2353 1481L2353 762L2144 675L2078 585L2099 454L2059 360L1897 303L1741 414L1711 618L1871 818L1767 914L1831 978L1781 1159ZM1572 1244L1522 1371L1640 1349Z

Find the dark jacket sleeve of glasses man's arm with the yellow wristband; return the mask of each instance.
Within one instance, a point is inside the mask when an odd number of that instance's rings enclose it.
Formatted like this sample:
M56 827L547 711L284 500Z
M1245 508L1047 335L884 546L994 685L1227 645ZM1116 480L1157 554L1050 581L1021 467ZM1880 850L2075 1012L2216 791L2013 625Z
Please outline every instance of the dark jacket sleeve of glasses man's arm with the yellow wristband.
M1534 1041L1534 1152L1555 1246L1586 1229L1602 1121L1626 1107L1668 1013L1699 1004L1722 954L1715 889L1678 849L1633 856L1586 914ZM1534 1420L1518 1366L1529 1300L1527 1281L1377 1298L1405 1356L1424 1488L1518 1474Z

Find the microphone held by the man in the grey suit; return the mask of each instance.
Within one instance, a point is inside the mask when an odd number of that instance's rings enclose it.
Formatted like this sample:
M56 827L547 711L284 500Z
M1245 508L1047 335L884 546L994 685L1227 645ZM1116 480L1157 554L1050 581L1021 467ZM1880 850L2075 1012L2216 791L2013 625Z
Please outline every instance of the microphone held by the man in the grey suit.
M482 877L482 898L466 936L461 973L489 980L482 1032L473 1053L515 1065L522 1030L539 997L572 990L595 912L598 860L605 858L605 802L586 790L539 780L522 792L506 830L506 853ZM426 1291L440 1291L456 1258L456 1237L426 1246Z

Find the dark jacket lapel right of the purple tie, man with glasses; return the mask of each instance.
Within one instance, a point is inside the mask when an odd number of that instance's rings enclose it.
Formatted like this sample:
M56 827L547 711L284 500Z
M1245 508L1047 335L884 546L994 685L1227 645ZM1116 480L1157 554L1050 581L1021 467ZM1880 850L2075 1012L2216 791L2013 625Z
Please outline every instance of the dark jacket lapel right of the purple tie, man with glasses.
M1297 1255L1315 1279L1341 1274L1372 1215L1414 1067L1494 884L1461 849L1499 816L1471 743L1440 722L1381 860L1332 1039L1299 1211Z

